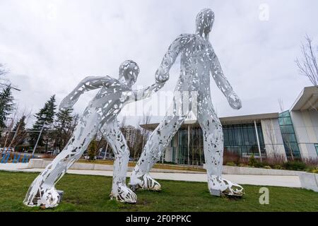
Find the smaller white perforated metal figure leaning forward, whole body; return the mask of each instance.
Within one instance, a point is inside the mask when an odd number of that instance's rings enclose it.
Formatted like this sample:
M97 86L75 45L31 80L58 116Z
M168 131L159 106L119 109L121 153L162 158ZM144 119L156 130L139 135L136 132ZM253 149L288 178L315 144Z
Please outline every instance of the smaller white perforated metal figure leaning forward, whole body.
M72 107L78 98L87 91L100 89L86 107L73 135L64 150L50 163L31 184L23 203L28 206L58 206L60 194L54 185L63 177L66 170L78 160L88 148L90 141L100 130L112 146L114 175L111 198L126 203L136 203L137 196L126 186L126 172L129 162L129 148L119 129L117 115L129 102L141 100L156 92L164 83L155 83L143 90L132 90L136 82L139 66L134 61L124 61L119 68L119 79L104 77L85 78L61 102L60 108Z

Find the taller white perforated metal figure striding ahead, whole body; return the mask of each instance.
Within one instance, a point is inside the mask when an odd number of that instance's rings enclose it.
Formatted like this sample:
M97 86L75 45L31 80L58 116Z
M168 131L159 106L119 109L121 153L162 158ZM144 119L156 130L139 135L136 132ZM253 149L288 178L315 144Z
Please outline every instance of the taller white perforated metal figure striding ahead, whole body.
M191 110L194 112L193 106L196 106L196 113L194 114L197 114L197 120L204 134L204 156L209 191L216 196L221 194L242 196L244 194L242 186L233 184L221 177L223 130L211 102L210 76L216 81L218 88L228 99L230 107L240 109L242 105L230 83L223 75L218 57L209 42L209 33L213 22L213 11L208 8L202 10L196 16L196 33L177 37L163 57L156 73L156 81L158 82L169 79L170 68L175 63L176 58L181 55L180 76L175 88L172 111L170 111L172 114L167 114L148 139L130 178L129 184L134 189L141 188L154 191L161 189L160 184L151 178L148 173L155 162L158 162L163 150L170 144L172 137L184 123L184 119L187 118L189 112ZM187 97L182 97L184 95L187 95ZM186 105L185 108L184 105Z

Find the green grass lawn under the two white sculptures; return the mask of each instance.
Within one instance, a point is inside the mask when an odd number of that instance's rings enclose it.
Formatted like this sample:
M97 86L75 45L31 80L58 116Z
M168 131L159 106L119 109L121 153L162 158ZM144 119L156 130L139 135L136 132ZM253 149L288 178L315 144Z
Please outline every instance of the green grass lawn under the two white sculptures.
M318 194L304 189L268 186L269 205L259 204L261 186L245 185L243 198L218 198L206 183L160 181L163 191L137 191L138 203L109 198L112 178L66 174L57 189L64 191L54 209L29 208L22 201L38 173L0 171L0 211L318 211Z

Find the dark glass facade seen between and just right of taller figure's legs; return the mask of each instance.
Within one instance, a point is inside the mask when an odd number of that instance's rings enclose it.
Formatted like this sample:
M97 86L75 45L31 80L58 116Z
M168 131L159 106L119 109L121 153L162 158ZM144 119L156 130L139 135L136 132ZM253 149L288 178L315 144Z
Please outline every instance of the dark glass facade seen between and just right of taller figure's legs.
M224 125L223 133L224 150L242 157L253 154L259 156L258 133L261 155L266 155L261 123L257 123L257 133L254 124ZM172 139L171 147L172 162L181 165L203 165L204 141L199 126L189 125L187 129L179 129Z

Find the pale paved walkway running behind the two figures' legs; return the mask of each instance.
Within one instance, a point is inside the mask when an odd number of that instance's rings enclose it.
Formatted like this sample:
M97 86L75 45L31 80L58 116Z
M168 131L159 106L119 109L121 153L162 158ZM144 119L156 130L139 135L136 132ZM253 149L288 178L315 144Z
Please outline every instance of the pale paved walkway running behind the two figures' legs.
M43 169L28 169L27 163L7 163L1 164L0 170L13 172L42 172ZM86 174L112 177L112 171L69 169L67 172L69 174ZM127 176L130 177L130 174L131 172L128 172ZM151 172L151 176L155 179L168 179L185 182L206 182L206 174ZM252 184L261 186L285 186L294 188L301 187L298 176L225 174L223 175L223 177L238 184Z

